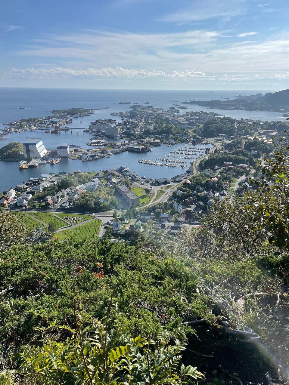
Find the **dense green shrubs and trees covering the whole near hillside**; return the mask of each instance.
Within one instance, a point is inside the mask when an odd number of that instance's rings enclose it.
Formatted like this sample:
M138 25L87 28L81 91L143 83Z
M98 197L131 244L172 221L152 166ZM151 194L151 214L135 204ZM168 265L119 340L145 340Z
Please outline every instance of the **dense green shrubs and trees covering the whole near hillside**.
M285 160L280 150L258 191L216 202L202 227L177 236L148 226L131 242L33 243L21 214L0 211L0 375L29 385L287 383Z

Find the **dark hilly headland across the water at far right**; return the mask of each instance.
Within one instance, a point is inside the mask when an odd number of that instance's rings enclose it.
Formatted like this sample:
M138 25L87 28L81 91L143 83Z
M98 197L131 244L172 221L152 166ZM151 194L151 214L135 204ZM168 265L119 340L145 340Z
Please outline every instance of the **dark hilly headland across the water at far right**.
M268 92L265 95L255 94L228 100L189 100L181 104L193 104L222 110L249 110L249 111L278 111L289 108L289 90Z

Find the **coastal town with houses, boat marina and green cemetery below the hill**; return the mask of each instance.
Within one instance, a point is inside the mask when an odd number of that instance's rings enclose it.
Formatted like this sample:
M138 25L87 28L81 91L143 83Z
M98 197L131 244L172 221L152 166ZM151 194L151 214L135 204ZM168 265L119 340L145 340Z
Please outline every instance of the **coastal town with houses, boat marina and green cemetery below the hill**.
M11 122L3 135L28 131L39 136L22 143L23 152L17 154L22 158L19 169L58 164L62 158L97 161L130 151L139 154L139 164L172 172L170 177L153 178L125 166L98 172L47 172L38 177L25 177L23 171L22 180L3 191L0 206L24 213L35 240L47 236L51 223L57 224L52 228L60 239L96 223L99 236L109 232L111 239L125 240L148 228L171 236L184 228L200 228L215 202L254 188L250 180L253 175L260 177L258 162L274 150L274 139L281 137L287 123L234 120L215 112L180 114L180 107L155 109L134 104L126 112L111 114L121 117L121 122L91 121L82 128L91 137L86 149L59 142L55 150L47 150L45 135L61 136L62 131L71 130L66 125L72 119L90 116L92 110L55 110L45 119ZM163 156L143 157L158 152L160 146L167 148Z

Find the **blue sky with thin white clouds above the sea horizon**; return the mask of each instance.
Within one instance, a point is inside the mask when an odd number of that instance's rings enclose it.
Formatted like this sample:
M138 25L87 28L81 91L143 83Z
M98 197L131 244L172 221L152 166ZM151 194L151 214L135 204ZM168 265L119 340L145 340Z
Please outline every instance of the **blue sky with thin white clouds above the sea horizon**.
M0 87L289 88L287 0L3 0Z

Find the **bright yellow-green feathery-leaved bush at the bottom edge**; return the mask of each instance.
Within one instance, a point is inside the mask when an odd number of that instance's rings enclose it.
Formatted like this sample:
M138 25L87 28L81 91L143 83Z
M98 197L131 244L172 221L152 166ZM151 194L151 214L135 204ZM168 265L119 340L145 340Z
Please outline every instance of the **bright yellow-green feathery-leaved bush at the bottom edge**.
M108 330L96 319L76 316L77 328L68 326L71 336L63 342L25 346L22 368L35 385L45 384L194 384L202 373L181 365L185 334L161 331L156 340L138 335L128 337L121 330ZM82 325L79 325L79 322ZM64 327L64 326L62 326Z

